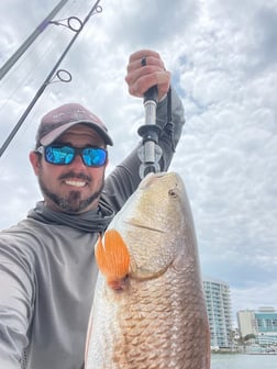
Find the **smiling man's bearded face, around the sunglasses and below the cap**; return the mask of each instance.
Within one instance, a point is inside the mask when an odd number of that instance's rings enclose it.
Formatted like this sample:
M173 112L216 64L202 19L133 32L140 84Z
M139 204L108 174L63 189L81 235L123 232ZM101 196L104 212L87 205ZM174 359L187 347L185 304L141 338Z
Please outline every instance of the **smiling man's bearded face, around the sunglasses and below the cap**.
M85 124L66 131L58 138L58 144L69 144L77 148L104 147L98 133ZM48 208L74 213L97 208L107 164L100 168L87 167L80 155L77 155L69 165L54 165L46 163L34 152L30 154L30 160Z

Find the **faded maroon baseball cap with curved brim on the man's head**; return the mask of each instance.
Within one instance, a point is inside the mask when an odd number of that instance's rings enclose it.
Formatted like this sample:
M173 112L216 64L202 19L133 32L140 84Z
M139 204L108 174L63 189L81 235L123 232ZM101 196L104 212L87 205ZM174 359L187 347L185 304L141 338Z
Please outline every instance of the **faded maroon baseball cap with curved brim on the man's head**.
M47 146L65 131L76 124L85 123L95 130L107 145L113 145L103 122L79 103L67 103L45 114L36 133L36 146Z

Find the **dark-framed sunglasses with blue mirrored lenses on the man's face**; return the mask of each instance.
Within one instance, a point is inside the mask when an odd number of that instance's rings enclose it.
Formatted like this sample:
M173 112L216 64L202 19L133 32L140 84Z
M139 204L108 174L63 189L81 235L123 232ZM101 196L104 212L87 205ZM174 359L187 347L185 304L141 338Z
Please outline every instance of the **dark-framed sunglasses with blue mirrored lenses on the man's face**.
M93 146L77 148L69 145L48 145L40 146L35 152L44 154L45 161L54 165L71 164L76 155L80 155L87 167L102 167L108 157L104 148Z

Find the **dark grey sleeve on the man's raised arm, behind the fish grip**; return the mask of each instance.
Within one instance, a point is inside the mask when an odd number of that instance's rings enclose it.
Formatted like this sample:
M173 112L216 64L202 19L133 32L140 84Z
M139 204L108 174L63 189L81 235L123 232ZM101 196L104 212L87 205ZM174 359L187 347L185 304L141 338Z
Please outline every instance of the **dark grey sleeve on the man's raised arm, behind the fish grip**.
M171 130L167 130L168 103L167 97L157 104L156 110L156 124L160 127L158 145L163 150L163 156L159 160L160 171L168 169L185 124L181 100L175 89L171 88L170 103L173 126ZM135 191L141 182L140 166L142 163L137 156L138 146L115 167L106 180L101 201L108 202L115 212L123 206L128 198Z

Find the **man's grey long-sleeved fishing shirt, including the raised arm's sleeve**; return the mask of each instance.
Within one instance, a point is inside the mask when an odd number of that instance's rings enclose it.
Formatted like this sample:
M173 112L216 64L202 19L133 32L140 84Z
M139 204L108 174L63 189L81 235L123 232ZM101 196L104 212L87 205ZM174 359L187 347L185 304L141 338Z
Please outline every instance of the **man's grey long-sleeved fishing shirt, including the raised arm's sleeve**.
M157 124L167 119L167 100L157 105ZM173 90L174 142L185 123ZM166 132L160 169L174 150ZM107 178L100 206L117 213L140 183L136 149ZM40 213L38 217L32 214ZM76 215L75 215L76 216ZM92 227L91 227L92 228ZM0 232L0 368L79 369L92 304L97 266L96 232L44 221L37 203L18 225Z

